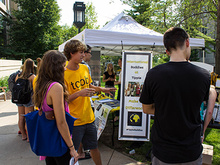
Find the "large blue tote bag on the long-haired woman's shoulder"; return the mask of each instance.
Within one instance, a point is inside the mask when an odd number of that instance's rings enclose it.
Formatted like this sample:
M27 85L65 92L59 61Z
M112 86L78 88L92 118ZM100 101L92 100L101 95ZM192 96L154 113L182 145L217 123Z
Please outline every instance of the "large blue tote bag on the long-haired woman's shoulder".
M65 113L69 131L72 133L76 118L68 112ZM43 111L42 115L38 111L28 113L25 118L30 146L36 155L59 157L67 152L68 146L57 128L56 120L46 119Z

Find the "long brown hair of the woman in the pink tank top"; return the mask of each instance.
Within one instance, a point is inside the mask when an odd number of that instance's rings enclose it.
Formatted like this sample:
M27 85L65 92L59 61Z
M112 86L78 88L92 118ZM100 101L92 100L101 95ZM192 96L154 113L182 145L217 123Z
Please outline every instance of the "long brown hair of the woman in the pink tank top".
M63 86L64 99L68 101L68 93L64 84L64 64L66 57L57 50L49 50L44 53L42 58L36 87L34 91L34 104L37 107L41 106L42 100L44 99L45 88L48 82L56 81Z

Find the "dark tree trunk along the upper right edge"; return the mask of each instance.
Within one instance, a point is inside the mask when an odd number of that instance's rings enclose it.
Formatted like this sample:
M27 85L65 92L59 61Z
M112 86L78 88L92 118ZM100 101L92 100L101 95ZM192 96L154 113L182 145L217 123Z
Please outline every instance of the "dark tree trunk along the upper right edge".
M215 73L220 76L220 0L218 0Z

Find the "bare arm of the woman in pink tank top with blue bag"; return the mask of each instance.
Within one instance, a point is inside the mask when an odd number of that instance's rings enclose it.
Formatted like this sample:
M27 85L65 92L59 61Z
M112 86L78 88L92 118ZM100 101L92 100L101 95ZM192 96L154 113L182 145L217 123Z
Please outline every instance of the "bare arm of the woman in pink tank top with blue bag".
M76 152L71 136L70 136L70 132L69 132L69 128L66 122L66 118L65 118L65 110L64 110L64 97L63 97L63 87L61 84L56 83L54 84L49 93L48 93L48 97L51 98L52 100L52 105L53 105L53 109L54 109L54 115L55 115L55 119L56 119L56 123L57 123L57 128L61 134L61 136L63 137L64 141L66 142L67 146L70 149L70 155L72 157L74 157L75 162L78 160L78 153ZM54 144L56 145L56 144Z

